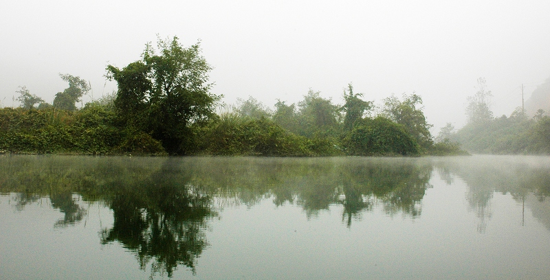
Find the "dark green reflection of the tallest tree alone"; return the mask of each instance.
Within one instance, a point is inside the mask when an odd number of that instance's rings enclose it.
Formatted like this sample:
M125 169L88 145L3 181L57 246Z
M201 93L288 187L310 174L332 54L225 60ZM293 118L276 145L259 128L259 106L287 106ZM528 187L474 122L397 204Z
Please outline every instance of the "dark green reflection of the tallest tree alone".
M164 162L161 170L137 185L113 187L114 224L101 238L134 250L141 269L151 262L152 275L168 277L180 264L195 274L197 258L208 246L206 220L216 215L211 197L188 184L186 173L173 163Z

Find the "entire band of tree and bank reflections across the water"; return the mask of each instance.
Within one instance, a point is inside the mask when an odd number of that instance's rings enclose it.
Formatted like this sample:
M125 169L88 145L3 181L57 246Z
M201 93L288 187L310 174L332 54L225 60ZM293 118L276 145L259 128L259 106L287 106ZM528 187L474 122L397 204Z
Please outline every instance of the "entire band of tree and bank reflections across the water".
M457 180L467 185L465 201L478 217L480 233L492 218L495 192L527 201L538 217L550 216L550 209L531 199L550 194L547 161L482 159L0 156L0 193L16 194L17 211L49 198L64 215L54 227L86 217L78 200L102 202L114 222L102 229L100 242L118 242L137 256L142 270L171 277L179 266L195 272L209 246L211 219L225 207L252 208L270 199L275 207L296 205L316 219L341 205L342 223L349 228L375 209L421 218L434 170L449 185ZM549 219L538 219L550 230Z

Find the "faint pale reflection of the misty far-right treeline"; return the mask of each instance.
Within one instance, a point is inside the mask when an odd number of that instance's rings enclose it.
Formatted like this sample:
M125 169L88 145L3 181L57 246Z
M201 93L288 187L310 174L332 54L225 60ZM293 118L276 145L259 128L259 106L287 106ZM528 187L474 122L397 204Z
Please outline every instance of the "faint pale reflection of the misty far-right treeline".
M480 233L485 232L492 218L491 201L495 193L510 194L523 207L528 196L543 202L550 195L550 161L544 156L455 157L436 161L434 165L448 185L455 177L466 183L465 198L479 220ZM550 220L540 221L550 229Z

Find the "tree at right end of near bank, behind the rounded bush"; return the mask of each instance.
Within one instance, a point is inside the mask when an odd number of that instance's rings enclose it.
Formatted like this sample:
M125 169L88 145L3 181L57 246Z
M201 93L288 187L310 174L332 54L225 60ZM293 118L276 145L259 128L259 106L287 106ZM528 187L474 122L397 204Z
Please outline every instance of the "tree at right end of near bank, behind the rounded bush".
M426 121L421 105L422 98L415 93L403 95L403 101L392 95L384 100L384 115L397 124L405 126L406 131L422 148L426 149L433 144L432 135L430 135L432 125Z

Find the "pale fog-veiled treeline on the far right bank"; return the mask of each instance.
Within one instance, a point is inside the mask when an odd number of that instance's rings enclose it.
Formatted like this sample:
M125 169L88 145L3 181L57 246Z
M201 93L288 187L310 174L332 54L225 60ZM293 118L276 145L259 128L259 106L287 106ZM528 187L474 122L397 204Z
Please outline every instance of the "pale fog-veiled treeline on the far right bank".
M542 86L549 83L550 79ZM550 117L544 110L531 118L518 107L509 117L493 117L489 110L491 91L483 78L478 79L478 85L477 93L468 99L468 123L454 133L449 133L452 128L448 125L444 134L449 139L479 154L550 154Z

